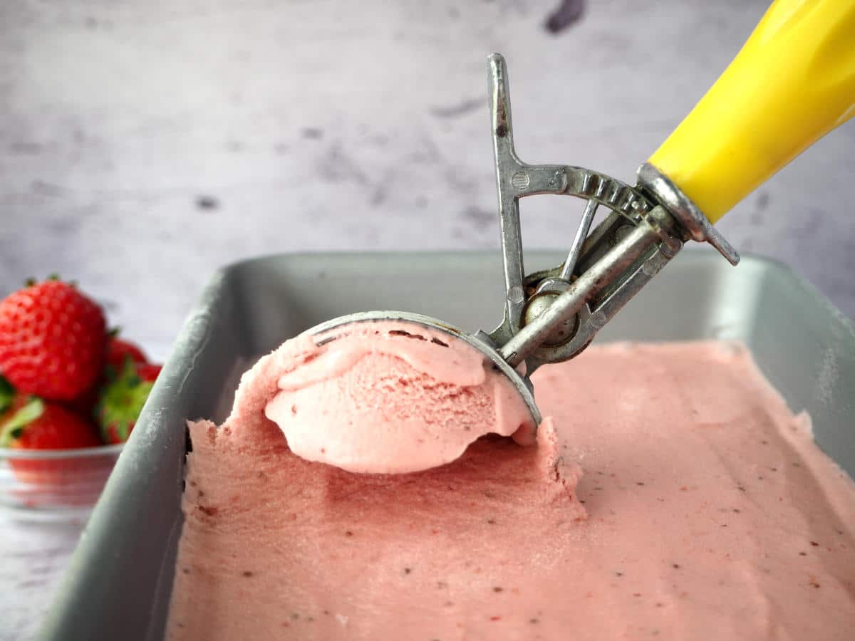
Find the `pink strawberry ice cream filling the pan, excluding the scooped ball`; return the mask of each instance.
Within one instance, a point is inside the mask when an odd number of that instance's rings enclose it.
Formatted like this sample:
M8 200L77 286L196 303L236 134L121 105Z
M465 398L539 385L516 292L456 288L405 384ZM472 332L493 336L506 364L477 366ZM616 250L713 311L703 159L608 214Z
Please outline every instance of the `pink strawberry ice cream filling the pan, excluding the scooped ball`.
M278 379L245 377L190 425L168 638L848 637L855 485L746 349L595 346L534 379L537 447L367 474L296 456Z

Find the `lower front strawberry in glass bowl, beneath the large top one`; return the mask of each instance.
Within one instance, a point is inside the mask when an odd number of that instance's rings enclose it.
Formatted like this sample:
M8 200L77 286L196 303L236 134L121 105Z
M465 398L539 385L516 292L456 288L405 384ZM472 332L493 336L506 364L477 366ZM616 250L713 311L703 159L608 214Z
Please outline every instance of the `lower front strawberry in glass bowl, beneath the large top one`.
M91 423L58 405L38 397L16 395L0 415L0 446L15 450L71 450L97 447ZM9 458L15 476L32 485L60 485L80 475L86 462L56 458Z

